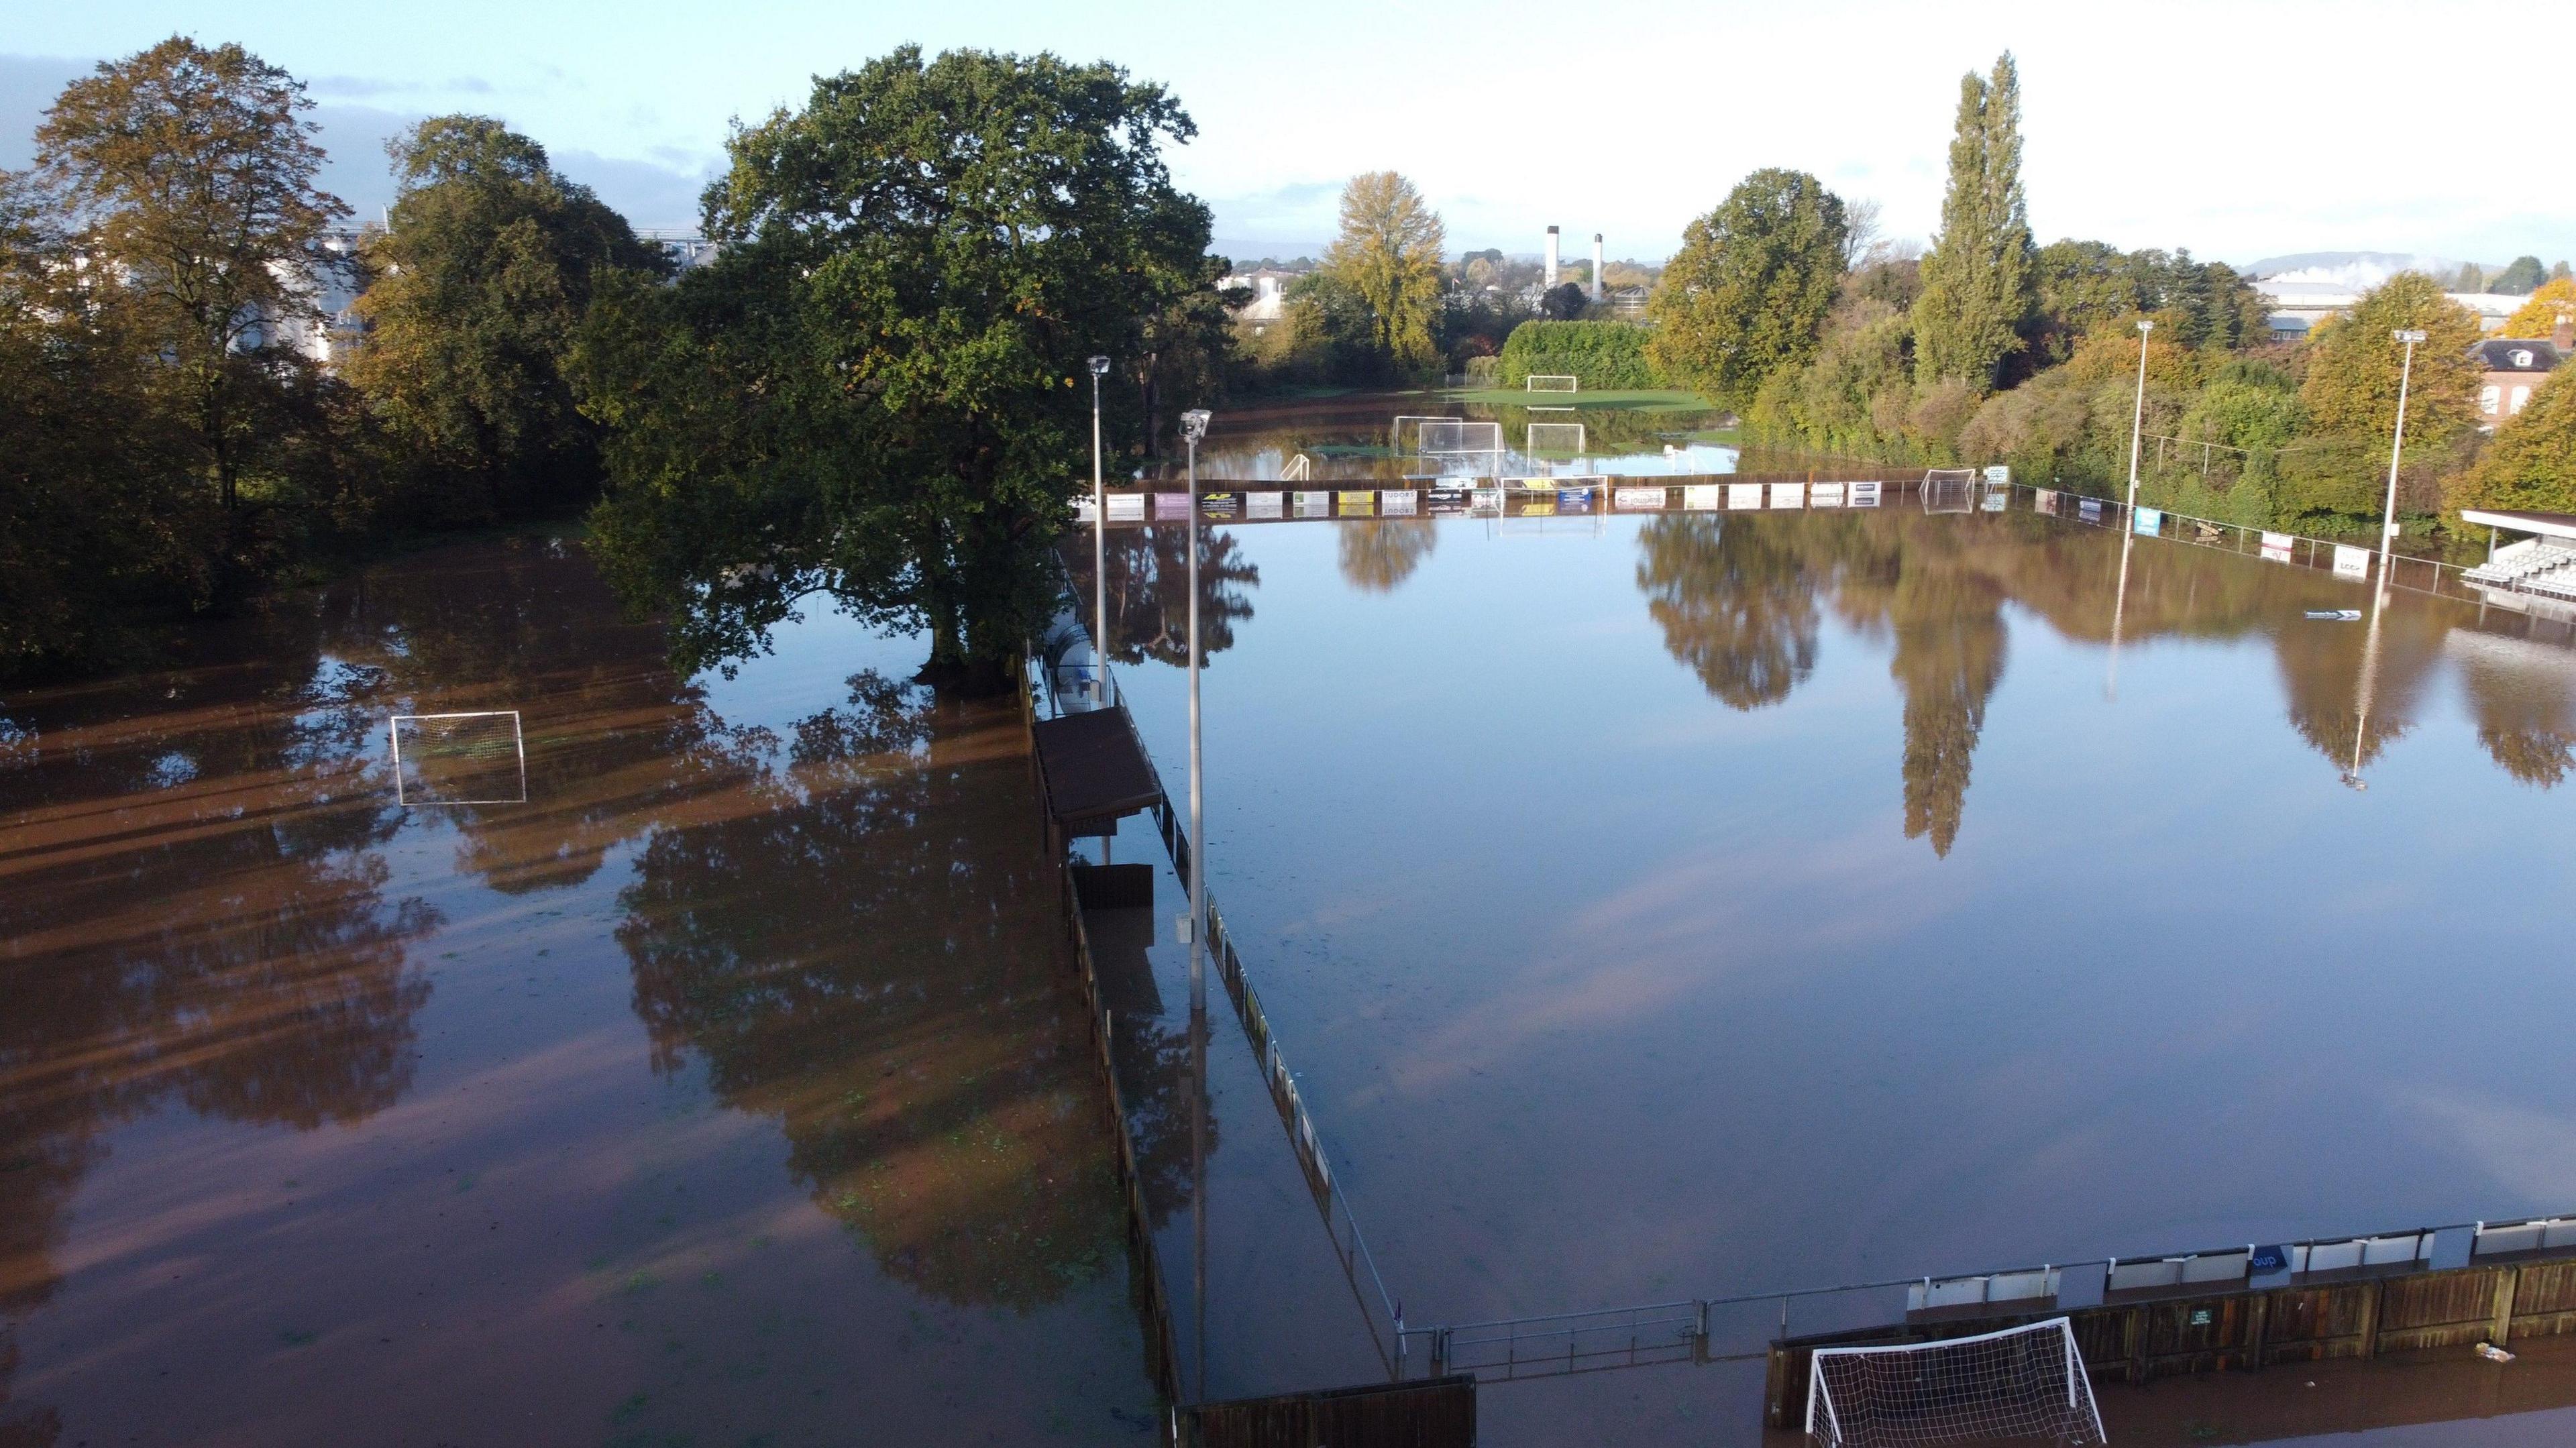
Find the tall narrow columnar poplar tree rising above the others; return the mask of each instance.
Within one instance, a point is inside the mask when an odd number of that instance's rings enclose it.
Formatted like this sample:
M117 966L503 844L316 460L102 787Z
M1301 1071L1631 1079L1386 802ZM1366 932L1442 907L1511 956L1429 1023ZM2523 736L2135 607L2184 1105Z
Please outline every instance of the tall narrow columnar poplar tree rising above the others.
M2030 206L2022 198L2022 82L2007 52L1994 75L1960 77L1950 193L1914 301L1914 371L1984 394L2025 348L2032 312Z

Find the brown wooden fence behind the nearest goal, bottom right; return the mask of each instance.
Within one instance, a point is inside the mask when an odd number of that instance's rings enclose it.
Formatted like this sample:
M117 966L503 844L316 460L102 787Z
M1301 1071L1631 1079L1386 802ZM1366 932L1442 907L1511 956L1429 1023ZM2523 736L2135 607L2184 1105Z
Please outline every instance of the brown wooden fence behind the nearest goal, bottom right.
M2362 1273L2370 1273L2367 1268ZM2257 1371L2321 1358L2375 1358L2470 1342L2576 1332L2576 1260L2481 1262L2445 1270L2336 1273L2342 1281L2239 1286L2014 1317L1947 1317L1793 1337L1770 1350L1765 1420L1806 1420L1816 1348L1937 1342L2017 1322L2066 1317L2094 1378L2143 1384L2182 1373Z

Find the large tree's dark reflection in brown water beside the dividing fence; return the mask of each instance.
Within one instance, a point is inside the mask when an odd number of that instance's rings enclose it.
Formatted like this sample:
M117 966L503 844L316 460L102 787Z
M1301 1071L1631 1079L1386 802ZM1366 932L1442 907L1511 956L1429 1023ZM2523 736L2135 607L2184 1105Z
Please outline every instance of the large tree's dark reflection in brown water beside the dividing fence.
M618 943L654 1059L781 1118L884 1270L1030 1306L1113 1265L1121 1201L1064 1007L1018 716L850 680L773 809L662 830Z

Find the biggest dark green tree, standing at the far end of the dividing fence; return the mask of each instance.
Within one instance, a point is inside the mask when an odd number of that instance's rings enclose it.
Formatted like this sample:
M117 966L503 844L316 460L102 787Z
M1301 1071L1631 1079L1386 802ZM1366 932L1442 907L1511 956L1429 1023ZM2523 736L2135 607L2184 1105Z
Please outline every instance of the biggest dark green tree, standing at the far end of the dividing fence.
M1193 134L1105 62L917 46L734 134L719 255L603 286L574 353L603 562L675 611L683 665L822 590L927 631L935 680L1007 680L1087 474L1082 358L1139 356L1206 286L1208 209L1164 165Z

